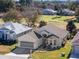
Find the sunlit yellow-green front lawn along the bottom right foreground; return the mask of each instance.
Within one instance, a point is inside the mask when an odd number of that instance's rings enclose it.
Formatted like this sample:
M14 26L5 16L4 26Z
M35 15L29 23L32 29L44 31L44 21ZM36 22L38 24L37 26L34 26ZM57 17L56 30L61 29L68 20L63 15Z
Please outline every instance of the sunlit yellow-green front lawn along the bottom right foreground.
M67 59L71 51L71 43L68 41L65 47L55 50L55 51L43 51L43 52L34 52L32 57L33 59ZM61 53L65 53L65 57L61 57Z

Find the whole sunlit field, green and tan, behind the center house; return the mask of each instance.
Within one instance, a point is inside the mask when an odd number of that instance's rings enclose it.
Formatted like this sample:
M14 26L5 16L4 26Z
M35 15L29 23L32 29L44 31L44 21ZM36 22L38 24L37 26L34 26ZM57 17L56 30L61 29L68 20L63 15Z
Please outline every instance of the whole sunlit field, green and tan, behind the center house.
M40 15L38 20L45 21L47 23L53 23L54 25L65 29L67 22L72 19L76 19L75 16L49 16L49 15ZM77 29L79 29L79 23L75 23Z

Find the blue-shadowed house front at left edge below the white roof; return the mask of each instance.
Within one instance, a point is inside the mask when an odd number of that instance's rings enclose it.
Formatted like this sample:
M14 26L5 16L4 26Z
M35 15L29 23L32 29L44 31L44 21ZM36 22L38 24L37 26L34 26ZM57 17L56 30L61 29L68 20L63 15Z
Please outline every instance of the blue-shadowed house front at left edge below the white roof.
M9 35L11 34L11 35ZM3 44L6 44L6 43L12 43L13 42L16 42L15 41L15 33L13 31L10 31L6 28L1 28L0 29L0 42L3 43Z

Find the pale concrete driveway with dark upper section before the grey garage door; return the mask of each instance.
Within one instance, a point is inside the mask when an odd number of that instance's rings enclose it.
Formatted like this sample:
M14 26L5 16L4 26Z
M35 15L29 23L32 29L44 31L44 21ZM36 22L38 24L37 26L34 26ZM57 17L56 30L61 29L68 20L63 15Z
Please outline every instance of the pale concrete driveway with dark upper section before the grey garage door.
M16 48L13 52L10 52L5 55L1 55L1 59L28 59L29 50L24 48Z

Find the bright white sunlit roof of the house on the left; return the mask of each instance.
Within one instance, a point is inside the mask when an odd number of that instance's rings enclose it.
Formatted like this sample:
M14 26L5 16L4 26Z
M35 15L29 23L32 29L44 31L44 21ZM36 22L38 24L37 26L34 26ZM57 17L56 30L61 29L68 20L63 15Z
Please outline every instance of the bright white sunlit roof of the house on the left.
M3 27L14 31L16 34L20 34L22 32L25 32L25 31L32 29L32 28L29 28L29 27L24 26L22 24L13 23L13 22L7 22L7 23L3 24Z

